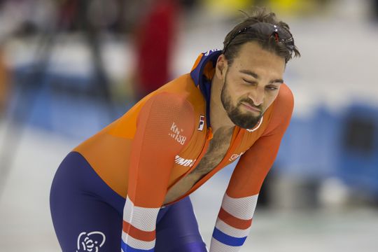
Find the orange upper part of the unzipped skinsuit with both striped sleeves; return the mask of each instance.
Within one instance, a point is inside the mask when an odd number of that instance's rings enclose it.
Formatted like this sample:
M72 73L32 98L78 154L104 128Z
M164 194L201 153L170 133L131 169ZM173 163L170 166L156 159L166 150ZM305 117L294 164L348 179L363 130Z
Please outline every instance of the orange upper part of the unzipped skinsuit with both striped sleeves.
M126 198L122 237L130 251L153 251L156 216L167 190L192 172L207 151L212 137L209 85L220 54L218 50L202 53L190 74L148 94L74 149ZM183 195L190 195L240 157L223 197L210 251L237 251L244 243L262 181L273 165L292 111L293 94L282 84L258 125L248 130L236 126L223 160Z

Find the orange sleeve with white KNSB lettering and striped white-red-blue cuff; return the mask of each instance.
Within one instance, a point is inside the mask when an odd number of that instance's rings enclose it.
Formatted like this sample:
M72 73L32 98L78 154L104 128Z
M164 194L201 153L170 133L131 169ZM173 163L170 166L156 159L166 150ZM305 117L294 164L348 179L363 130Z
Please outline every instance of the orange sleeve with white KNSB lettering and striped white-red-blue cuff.
M190 140L193 125L192 106L176 94L157 94L139 112L123 210L122 251L154 251L156 218L174 157Z

